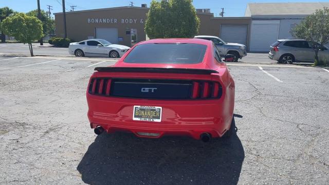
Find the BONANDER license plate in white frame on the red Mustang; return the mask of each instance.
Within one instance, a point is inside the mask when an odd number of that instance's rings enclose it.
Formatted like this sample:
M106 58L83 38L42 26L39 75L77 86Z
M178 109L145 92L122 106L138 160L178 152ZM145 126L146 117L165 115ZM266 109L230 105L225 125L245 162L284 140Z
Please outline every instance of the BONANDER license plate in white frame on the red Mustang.
M161 122L162 107L134 106L133 120Z

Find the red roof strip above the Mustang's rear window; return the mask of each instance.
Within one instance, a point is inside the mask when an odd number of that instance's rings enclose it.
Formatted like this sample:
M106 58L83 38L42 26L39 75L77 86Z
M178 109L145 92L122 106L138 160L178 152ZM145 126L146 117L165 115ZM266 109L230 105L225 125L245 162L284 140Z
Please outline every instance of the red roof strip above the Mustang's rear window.
M204 39L188 39L188 38L177 38L177 39L152 39L148 41L143 41L138 44L157 44L157 43L190 43L190 44L203 44L203 45L211 45L212 41L204 40Z

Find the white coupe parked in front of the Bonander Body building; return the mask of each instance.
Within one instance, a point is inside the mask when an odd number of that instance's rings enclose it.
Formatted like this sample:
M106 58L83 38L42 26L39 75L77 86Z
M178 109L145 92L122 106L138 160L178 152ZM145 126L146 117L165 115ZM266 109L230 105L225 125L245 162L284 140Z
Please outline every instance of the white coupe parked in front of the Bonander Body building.
M104 39L89 39L70 43L68 52L76 57L111 57L120 58L130 47L112 44Z

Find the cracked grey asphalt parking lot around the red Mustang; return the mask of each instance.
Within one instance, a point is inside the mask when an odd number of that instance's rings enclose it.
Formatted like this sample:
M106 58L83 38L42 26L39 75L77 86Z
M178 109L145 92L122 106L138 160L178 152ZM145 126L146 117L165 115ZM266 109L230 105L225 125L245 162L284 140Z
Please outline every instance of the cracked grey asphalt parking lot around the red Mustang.
M233 64L236 135L96 136L98 58L0 57L0 184L329 184L329 71Z

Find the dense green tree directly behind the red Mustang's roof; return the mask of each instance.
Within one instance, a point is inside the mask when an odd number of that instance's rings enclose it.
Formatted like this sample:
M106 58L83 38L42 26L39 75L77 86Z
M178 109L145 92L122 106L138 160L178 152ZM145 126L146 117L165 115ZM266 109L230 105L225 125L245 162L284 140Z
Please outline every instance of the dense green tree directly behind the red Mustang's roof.
M149 38L191 38L197 34L200 20L192 0L152 0L145 32Z

